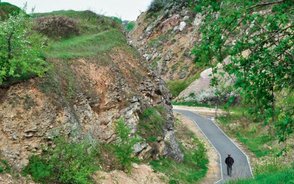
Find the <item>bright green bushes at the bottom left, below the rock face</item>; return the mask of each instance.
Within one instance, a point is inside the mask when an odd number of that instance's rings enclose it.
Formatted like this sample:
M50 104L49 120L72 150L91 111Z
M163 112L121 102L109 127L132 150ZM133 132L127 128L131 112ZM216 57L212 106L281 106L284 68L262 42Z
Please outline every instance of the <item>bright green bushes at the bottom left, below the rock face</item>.
M89 175L98 169L98 151L87 141L69 142L63 138L54 140L55 148L48 148L43 155L33 156L23 173L31 174L38 182L61 184L92 184Z

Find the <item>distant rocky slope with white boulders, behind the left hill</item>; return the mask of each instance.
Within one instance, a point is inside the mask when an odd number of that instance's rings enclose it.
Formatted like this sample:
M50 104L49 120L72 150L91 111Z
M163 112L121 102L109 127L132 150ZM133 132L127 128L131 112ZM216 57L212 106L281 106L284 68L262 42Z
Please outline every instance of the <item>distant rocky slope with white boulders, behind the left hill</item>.
M133 46L165 81L184 79L198 72L190 51L201 41L203 15L189 11L188 6L172 1L157 18L148 19L150 12L144 12L128 34Z

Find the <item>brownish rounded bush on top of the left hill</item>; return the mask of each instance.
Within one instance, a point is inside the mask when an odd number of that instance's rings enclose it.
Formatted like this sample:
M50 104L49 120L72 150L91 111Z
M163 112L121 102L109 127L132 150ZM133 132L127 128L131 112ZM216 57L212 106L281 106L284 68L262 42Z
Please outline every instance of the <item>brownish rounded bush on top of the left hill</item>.
M33 19L37 26L38 32L52 38L68 38L71 35L78 35L77 21L66 16L44 16Z

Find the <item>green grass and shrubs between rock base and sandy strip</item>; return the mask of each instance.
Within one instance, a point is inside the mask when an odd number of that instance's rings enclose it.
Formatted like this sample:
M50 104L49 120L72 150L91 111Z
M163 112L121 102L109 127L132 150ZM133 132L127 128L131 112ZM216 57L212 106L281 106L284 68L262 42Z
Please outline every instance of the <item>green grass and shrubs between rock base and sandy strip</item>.
M204 144L195 137L193 132L179 123L178 121L175 123L176 141L184 141L192 147L188 149L180 143L184 161L177 163L172 159L162 157L149 163L155 172L167 175L168 182L171 184L192 184L205 177L209 161Z

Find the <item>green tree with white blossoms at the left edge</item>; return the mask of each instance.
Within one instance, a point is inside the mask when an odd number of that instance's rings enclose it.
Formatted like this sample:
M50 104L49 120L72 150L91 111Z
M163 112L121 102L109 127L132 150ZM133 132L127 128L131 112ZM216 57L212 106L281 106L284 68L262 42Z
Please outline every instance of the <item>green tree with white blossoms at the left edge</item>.
M0 84L11 78L42 76L48 70L42 58L44 39L32 27L24 12L0 22Z

